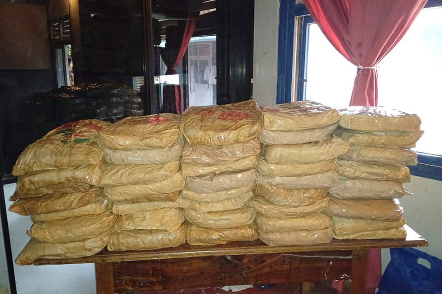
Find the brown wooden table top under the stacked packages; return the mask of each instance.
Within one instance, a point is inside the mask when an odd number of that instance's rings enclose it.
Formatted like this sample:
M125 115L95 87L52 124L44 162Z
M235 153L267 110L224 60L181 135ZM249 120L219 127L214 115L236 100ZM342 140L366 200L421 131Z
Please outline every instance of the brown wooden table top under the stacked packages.
M243 254L265 253L288 253L288 252L316 252L316 251L340 251L370 248L398 248L428 246L428 242L416 233L408 225L407 239L376 239L376 240L336 240L328 244L308 246L268 246L261 241L254 242L231 242L224 245L192 246L183 244L174 248L164 248L144 251L108 251L107 249L87 257L81 258L58 258L39 259L34 265L59 265L100 262L123 262L138 260L155 260L170 258L190 258L200 256L222 256Z

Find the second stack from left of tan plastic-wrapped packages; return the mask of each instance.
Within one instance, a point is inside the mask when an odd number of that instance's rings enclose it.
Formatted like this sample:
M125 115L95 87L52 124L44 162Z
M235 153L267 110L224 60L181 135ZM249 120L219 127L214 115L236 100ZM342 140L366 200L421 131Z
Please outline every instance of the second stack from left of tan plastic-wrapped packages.
M174 114L130 117L100 132L105 146L100 186L112 202L111 212L119 215L109 250L158 249L185 243L183 211L176 203L184 186L179 122L180 117Z

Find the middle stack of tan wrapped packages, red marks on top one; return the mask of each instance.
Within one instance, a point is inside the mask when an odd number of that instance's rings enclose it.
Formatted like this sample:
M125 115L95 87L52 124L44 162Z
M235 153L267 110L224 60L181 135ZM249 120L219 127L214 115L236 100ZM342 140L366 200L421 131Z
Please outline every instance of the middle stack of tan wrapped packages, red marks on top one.
M256 212L248 202L255 187L260 112L253 100L191 107L181 118L185 137L180 201L191 245L257 239Z

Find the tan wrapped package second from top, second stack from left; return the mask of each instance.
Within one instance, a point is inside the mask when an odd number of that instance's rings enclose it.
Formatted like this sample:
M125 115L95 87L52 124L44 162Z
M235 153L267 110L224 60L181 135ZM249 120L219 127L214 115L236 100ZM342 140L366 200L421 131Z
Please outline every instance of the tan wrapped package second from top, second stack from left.
M103 159L113 164L166 164L180 159L182 141L164 148L116 150L103 148Z

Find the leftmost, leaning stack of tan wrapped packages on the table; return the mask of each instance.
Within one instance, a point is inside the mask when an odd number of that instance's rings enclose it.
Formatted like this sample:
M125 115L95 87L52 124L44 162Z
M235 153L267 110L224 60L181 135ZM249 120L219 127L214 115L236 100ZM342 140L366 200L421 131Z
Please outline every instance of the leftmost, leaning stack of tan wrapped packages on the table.
M16 259L77 258L108 243L116 216L99 188L103 150L98 132L108 123L84 120L63 124L29 145L13 169L17 175L10 211L31 216L31 240Z

